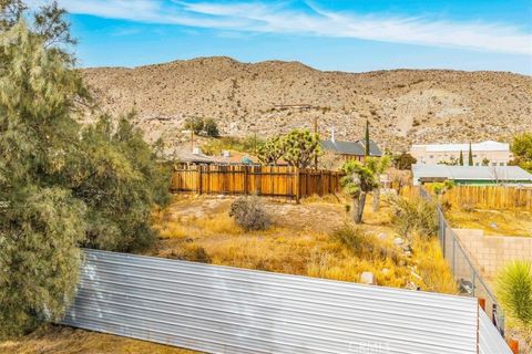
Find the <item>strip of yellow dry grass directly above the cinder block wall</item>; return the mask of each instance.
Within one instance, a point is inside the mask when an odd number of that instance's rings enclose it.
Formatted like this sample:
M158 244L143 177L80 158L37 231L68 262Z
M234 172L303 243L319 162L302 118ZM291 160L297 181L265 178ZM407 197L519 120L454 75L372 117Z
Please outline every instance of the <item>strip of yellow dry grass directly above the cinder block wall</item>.
M446 212L452 227L482 229L485 235L532 237L532 212L452 207ZM497 227L493 227L497 225Z

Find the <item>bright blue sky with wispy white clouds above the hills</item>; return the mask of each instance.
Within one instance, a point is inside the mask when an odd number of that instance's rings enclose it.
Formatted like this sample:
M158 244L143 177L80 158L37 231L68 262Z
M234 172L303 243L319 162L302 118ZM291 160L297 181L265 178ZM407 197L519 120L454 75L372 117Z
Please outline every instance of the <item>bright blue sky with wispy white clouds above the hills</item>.
M29 1L31 4L44 0ZM530 0L60 0L81 66L196 56L532 74Z

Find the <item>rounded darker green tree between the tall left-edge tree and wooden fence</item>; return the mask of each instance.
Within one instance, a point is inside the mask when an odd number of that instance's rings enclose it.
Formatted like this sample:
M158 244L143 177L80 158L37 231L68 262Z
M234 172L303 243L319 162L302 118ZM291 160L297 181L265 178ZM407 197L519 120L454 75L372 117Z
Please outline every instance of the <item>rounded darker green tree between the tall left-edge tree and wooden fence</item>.
M170 169L156 163L133 117L121 117L116 127L109 116L100 117L83 131L81 148L69 163L73 194L88 206L85 247L131 251L151 246L151 210L170 201Z

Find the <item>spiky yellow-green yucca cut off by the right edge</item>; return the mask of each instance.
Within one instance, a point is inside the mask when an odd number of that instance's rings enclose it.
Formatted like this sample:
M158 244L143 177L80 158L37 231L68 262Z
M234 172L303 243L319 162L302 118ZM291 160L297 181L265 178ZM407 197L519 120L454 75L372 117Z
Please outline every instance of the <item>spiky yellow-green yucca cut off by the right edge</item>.
M516 324L525 342L525 353L532 350L532 263L514 261L498 275L497 295L504 312Z

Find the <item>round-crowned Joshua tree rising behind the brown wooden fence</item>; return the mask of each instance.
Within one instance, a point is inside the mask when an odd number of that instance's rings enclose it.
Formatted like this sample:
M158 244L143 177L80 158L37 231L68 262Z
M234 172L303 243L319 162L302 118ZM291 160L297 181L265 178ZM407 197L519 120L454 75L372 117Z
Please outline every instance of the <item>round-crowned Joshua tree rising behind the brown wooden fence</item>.
M283 158L297 168L307 168L321 154L319 135L308 129L294 129L282 138Z

